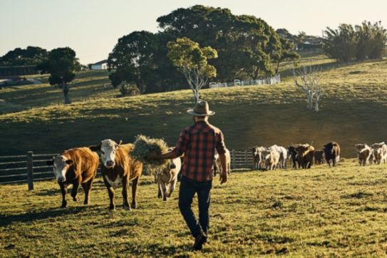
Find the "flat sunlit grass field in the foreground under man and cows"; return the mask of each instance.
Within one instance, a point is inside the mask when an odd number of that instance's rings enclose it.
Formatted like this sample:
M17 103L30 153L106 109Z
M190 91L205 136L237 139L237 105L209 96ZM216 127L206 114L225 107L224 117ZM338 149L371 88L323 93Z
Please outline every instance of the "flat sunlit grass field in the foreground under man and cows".
M334 168L238 171L225 185L216 179L202 252L190 249L177 192L162 202L150 176L140 180L132 212L108 211L100 177L91 205L71 200L66 209L53 180L31 192L1 185L0 257L384 257L386 168L346 160ZM120 190L115 200L121 203Z

